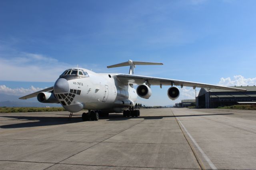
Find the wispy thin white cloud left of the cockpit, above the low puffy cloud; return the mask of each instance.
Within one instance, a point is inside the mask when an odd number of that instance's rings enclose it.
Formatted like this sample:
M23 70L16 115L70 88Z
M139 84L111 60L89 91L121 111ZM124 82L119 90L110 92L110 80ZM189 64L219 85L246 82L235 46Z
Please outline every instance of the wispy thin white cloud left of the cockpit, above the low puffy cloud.
M41 54L0 53L0 80L4 81L52 82L70 67L74 66Z

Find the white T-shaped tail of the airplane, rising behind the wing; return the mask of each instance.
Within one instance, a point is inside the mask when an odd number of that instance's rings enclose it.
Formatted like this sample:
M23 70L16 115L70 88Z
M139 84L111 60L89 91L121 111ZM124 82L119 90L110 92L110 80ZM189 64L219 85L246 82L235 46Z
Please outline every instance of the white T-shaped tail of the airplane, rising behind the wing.
M118 63L115 65L110 65L107 68L114 68L114 67L123 67L123 66L129 66L130 65L130 70L129 74L134 74L134 68L136 67L135 65L163 65L163 63L151 63L151 62L144 62L144 61L132 61L129 59L129 61L126 61L124 63Z

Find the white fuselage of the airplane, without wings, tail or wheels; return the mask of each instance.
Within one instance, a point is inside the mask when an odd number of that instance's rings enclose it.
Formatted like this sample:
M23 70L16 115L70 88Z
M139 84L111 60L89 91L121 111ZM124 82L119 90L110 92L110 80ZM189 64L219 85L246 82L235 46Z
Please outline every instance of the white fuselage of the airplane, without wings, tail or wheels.
M128 107L134 106L137 93L132 84L124 85L113 73L94 73L87 69L83 70L88 73L89 77L74 75L69 78L70 75L66 75L66 77L59 78L65 78L68 81L70 92L80 91L80 95L73 94L72 102L69 102L69 105L64 99L58 98L66 110L77 112L81 109L90 109L121 113ZM58 94L61 93L55 95ZM71 94L68 95L72 97ZM63 105L63 101L66 105Z

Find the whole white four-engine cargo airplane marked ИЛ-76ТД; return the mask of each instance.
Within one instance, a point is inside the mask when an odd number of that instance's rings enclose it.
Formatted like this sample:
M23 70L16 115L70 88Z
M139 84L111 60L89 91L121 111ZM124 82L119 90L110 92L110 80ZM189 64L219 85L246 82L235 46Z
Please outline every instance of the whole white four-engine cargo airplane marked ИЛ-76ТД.
M210 85L190 81L165 79L134 75L136 65L163 65L144 61L128 60L123 63L107 66L107 68L130 66L129 74L122 73L95 73L88 69L74 67L65 70L56 80L53 87L37 91L20 97L29 99L37 97L41 103L60 103L70 114L87 109L82 113L83 121L98 121L99 115L108 116L109 113L123 113L124 117L138 117L140 110L134 108L137 97L149 99L152 95L152 85L168 85L167 95L175 100L182 88L196 87L210 89L224 89L232 91L246 91L234 87ZM135 89L134 85L138 85Z

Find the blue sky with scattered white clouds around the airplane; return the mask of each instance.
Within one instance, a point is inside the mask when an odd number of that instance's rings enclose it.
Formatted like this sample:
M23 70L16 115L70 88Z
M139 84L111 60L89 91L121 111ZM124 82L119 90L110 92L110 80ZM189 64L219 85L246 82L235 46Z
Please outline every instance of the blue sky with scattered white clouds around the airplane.
M0 93L17 97L51 87L70 67L128 73L106 66L132 59L135 74L216 85L256 85L255 0L1 0ZM194 99L152 86L145 105ZM197 89L199 93L200 89Z

